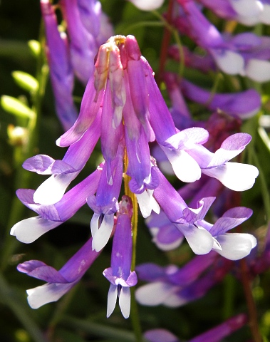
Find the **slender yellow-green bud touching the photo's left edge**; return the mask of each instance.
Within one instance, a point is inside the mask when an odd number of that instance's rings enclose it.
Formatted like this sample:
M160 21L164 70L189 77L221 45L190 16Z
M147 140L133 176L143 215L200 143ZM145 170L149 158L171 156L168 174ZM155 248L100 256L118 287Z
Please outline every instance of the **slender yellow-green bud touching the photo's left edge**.
M1 96L1 106L6 112L11 113L19 118L33 118L35 113L27 105L22 103L17 98L12 96L3 95Z

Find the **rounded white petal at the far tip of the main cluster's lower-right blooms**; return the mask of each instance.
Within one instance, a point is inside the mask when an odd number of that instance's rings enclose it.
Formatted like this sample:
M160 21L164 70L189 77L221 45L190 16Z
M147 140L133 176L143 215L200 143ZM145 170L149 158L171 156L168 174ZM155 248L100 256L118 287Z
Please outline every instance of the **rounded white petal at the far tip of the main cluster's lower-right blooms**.
M244 233L226 233L217 237L222 250L216 250L217 253L229 260L239 260L251 252L256 247L256 238L251 234Z

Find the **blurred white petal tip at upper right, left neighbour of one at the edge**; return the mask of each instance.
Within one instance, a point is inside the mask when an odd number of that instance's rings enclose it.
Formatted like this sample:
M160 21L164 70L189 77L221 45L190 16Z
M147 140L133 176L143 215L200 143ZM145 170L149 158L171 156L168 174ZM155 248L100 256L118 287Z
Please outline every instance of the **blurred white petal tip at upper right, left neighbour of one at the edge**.
M209 49L217 66L229 75L244 73L244 58L237 52L225 49Z

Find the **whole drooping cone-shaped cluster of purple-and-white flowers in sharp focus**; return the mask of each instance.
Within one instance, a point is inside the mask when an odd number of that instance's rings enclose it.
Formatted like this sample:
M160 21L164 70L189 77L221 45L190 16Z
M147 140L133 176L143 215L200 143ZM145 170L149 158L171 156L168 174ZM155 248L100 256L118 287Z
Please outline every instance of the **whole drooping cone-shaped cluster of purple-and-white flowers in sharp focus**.
M60 147L68 147L63 160L36 155L23 165L28 171L50 177L37 190L17 191L21 202L38 214L12 227L11 234L19 241L35 241L66 222L84 204L93 210L90 239L59 271L42 261L19 264L19 271L46 281L27 291L30 306L36 309L66 294L113 235L111 264L103 272L110 281L107 315L112 314L119 297L120 309L127 318L130 286L137 284L137 275L131 269L136 202L145 218L150 217L152 211L159 214L162 209L162 217L170 224L172 245L179 244L178 240L185 237L195 254L209 253L210 259L219 257L218 254L231 260L246 257L256 246L256 239L251 234L228 231L248 219L251 209L232 208L214 224L207 222L204 217L214 197L202 195L189 207L150 155L149 142L155 141L182 182L192 183L204 175L235 191L250 189L258 176L256 167L229 160L244 150L251 136L246 133L230 135L214 152L204 147L208 138L209 133L204 128L179 130L175 127L152 68L141 56L134 36L113 36L101 45L78 118L56 142ZM104 162L66 192L99 139ZM120 201L123 179L131 195L125 194ZM141 269L138 270L140 274ZM161 279L164 280L164 276L160 275L159 282L163 281ZM192 281L194 279L187 279L187 284ZM175 296L181 301L183 290L179 286L183 284L170 286L174 294L178 286Z

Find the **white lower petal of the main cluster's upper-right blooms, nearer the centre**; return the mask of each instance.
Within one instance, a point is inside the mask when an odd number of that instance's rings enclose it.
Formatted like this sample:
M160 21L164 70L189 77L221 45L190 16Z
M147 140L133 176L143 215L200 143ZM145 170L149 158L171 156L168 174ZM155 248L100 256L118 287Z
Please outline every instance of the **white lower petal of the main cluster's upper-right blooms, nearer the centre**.
M201 169L197 162L184 150L169 150L162 147L172 165L177 178L182 182L195 182L201 177Z

